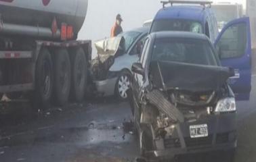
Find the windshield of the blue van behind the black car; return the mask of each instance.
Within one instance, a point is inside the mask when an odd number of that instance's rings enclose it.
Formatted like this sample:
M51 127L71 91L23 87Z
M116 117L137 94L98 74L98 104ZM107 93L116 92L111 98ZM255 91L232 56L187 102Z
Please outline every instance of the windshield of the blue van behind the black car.
M202 25L191 20L155 20L151 33L159 31L186 31L202 33Z

